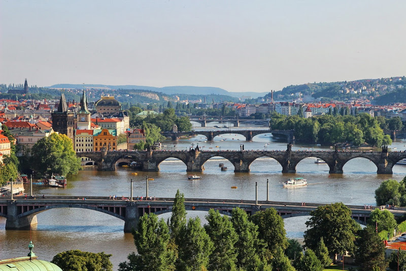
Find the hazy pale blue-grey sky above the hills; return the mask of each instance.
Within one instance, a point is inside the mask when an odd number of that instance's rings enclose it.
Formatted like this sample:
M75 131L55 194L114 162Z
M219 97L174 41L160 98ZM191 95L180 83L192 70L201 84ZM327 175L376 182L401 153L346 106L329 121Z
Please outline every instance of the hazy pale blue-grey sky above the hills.
M406 75L406 1L4 1L0 83L228 91Z

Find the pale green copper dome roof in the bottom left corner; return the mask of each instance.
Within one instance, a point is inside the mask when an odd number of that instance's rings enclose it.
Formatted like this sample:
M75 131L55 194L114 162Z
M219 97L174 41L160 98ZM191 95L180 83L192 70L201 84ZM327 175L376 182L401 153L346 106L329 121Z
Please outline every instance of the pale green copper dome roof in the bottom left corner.
M37 260L37 257L20 257L7 260L0 260L1 271L62 271L59 266L44 260Z

